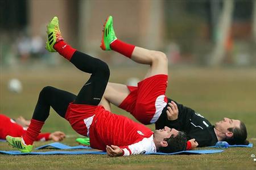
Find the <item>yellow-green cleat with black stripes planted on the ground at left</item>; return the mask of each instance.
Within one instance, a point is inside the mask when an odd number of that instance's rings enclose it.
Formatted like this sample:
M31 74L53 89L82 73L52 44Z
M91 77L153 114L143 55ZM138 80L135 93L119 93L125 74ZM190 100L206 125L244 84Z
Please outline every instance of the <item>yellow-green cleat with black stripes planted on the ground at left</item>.
M23 153L31 152L33 145L24 145L22 138L20 137L11 137L9 135L6 136L6 141L9 143L9 145L17 148Z

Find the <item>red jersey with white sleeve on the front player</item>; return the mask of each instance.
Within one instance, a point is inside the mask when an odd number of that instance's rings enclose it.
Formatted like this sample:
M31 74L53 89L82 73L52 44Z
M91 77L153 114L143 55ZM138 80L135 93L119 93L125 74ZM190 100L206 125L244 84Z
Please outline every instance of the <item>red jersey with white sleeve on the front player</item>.
M116 145L124 155L156 152L153 132L129 118L105 111L94 116L90 126L90 146L105 150L106 145Z

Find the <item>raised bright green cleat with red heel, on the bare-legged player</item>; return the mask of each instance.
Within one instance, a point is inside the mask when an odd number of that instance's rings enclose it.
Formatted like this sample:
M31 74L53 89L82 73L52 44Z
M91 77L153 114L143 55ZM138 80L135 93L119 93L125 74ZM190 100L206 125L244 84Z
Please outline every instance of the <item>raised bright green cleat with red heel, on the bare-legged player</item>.
M114 28L113 28L113 17L109 16L106 19L106 22L102 30L102 39L101 39L101 49L102 50L111 50L110 44L116 40Z

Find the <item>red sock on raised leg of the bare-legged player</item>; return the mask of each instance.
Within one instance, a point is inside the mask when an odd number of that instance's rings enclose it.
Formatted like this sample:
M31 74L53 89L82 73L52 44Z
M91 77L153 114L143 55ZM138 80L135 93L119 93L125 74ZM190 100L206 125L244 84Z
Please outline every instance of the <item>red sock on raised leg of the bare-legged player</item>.
M126 44L125 42L117 39L110 44L110 48L115 52L121 53L124 56L131 58L131 54L133 54L135 45Z

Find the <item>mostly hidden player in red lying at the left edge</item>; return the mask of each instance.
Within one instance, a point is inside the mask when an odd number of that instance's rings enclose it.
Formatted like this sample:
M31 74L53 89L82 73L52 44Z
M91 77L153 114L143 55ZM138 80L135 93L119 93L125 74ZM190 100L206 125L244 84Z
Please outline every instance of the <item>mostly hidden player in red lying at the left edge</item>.
M10 117L0 114L0 139L5 139L7 135L12 137L21 137L27 130L27 126L30 125L30 121L25 120L22 116L16 118L16 120ZM65 138L65 134L61 131L55 131L53 133L40 133L36 137L35 141L55 141L59 142Z

